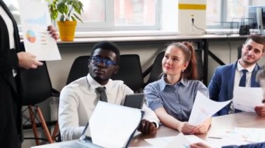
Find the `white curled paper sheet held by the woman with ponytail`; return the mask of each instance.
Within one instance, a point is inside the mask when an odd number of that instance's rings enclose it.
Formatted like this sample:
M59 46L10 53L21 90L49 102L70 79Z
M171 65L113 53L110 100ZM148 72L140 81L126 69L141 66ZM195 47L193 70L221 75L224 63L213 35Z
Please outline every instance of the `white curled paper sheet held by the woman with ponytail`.
M225 107L230 101L213 101L204 96L202 92L197 92L195 102L190 113L188 123L197 126L204 122L207 118L217 113L221 108Z

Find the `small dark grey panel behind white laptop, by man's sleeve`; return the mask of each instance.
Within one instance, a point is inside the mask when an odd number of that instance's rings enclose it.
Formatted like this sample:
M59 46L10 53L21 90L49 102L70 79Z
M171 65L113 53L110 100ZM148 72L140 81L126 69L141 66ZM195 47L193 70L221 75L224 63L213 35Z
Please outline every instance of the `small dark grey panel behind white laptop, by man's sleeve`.
M144 93L126 95L123 106L142 109L144 104Z

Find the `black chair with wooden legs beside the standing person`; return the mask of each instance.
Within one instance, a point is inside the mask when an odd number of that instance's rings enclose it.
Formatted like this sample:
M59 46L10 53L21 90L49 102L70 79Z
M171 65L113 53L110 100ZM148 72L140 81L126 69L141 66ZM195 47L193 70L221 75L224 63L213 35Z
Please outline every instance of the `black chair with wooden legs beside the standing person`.
M29 117L23 115L23 117L27 120L23 125L25 126L27 122L31 122L36 145L40 145L39 140L43 138L39 138L37 126L38 124L41 124L46 135L47 142L52 143L52 137L47 128L43 113L36 105L45 101L45 99L49 97L59 97L56 90L52 88L50 76L47 71L47 65L43 62L43 66L40 66L37 69L20 69L19 72L20 86L18 90L21 94L22 106L28 106L29 109Z

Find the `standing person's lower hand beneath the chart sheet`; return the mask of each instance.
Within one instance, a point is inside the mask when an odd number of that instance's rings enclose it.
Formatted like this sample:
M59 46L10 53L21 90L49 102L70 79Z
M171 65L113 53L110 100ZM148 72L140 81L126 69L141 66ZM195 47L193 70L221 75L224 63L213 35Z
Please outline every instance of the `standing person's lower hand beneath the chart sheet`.
M22 67L25 69L29 69L29 68L36 69L38 66L43 65L43 63L41 63L40 61L36 59L36 56L28 52L19 52L17 53L17 57L19 61L18 62L19 67Z

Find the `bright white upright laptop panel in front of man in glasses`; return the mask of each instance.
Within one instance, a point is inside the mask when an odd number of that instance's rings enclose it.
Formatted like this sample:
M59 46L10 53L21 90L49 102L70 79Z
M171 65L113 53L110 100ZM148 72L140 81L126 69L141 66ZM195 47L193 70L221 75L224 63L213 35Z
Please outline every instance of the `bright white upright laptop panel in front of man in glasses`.
M143 112L136 108L98 101L89 120L93 144L101 147L127 147Z

